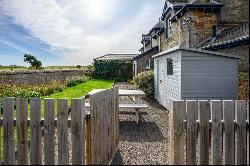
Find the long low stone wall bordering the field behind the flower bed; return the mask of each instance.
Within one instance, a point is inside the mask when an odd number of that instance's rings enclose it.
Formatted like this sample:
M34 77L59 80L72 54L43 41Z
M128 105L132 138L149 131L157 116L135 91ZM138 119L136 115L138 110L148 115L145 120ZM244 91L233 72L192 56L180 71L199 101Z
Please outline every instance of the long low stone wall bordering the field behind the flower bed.
M90 70L27 70L0 71L1 84L42 85L52 82L66 82L83 74L91 74Z

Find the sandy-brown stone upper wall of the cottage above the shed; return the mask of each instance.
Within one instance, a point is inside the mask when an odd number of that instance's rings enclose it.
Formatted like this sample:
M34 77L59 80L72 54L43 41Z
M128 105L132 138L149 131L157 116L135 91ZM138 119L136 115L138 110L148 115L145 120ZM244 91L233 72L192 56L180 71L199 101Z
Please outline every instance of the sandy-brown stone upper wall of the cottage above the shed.
M172 23L172 35L166 38L166 31L161 34L161 51L178 45L184 47L194 47L199 42L212 36L212 28L217 25L216 10L190 10L179 20ZM184 23L185 18L191 18L192 24ZM165 20L166 21L166 20Z

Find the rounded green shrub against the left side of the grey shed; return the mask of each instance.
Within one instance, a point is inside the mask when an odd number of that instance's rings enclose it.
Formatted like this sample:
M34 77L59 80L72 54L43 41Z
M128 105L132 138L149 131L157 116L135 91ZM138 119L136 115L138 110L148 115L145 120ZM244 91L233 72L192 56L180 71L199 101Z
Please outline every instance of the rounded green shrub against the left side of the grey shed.
M148 97L154 97L154 72L145 71L134 77L133 82L137 88L143 90Z

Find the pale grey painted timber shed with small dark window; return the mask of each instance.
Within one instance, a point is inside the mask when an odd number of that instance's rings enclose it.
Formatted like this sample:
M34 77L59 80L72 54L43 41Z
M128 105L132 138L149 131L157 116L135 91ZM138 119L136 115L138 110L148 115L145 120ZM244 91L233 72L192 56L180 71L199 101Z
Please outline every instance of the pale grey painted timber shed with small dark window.
M176 47L153 58L155 99L165 108L173 100L237 98L237 56Z

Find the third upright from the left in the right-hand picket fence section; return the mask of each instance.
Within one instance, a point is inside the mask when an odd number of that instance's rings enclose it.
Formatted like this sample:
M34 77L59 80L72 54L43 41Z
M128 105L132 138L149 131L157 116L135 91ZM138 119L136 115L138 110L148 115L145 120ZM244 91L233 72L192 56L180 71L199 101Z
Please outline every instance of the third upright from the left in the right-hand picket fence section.
M200 140L200 165L209 164L209 115L210 104L208 101L198 102L199 112L199 140Z

